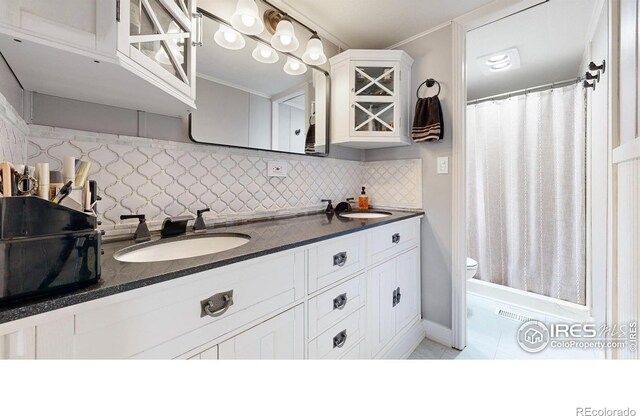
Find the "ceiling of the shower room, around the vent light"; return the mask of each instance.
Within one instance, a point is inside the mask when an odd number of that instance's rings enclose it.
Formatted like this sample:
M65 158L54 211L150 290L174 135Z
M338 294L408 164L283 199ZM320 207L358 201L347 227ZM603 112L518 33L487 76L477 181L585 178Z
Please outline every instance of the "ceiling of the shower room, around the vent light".
M564 81L581 67L596 0L550 0L467 35L467 97L470 100ZM517 48L521 67L489 75L478 57Z

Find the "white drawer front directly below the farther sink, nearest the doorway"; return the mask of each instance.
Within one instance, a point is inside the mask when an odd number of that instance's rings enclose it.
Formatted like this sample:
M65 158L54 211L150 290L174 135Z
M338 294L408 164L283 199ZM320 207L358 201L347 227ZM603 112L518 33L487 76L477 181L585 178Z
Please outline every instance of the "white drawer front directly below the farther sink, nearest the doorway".
M391 258L397 253L417 245L419 236L419 218L398 221L372 229L369 246L371 264Z

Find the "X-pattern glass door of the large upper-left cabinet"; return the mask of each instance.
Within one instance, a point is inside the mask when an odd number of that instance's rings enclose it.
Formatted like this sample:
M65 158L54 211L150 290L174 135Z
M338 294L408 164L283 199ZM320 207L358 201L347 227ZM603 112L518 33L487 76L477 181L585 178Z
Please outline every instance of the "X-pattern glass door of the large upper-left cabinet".
M129 44L189 85L191 0L131 0Z

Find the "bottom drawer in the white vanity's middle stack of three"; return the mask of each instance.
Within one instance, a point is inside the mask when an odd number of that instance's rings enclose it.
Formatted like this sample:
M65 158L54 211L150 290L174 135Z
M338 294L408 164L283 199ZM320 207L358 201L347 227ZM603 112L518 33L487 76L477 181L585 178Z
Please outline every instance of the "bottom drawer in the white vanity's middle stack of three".
M366 308L360 308L309 343L309 358L337 359L358 344L366 325Z

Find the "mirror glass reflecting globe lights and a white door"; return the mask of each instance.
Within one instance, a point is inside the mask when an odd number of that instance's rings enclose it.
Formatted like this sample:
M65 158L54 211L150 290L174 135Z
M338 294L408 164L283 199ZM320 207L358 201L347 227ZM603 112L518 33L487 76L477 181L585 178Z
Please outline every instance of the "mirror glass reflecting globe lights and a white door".
M197 143L326 156L330 78L257 36L203 14L191 139ZM221 46L223 45L223 46Z

